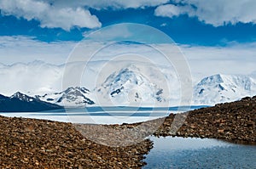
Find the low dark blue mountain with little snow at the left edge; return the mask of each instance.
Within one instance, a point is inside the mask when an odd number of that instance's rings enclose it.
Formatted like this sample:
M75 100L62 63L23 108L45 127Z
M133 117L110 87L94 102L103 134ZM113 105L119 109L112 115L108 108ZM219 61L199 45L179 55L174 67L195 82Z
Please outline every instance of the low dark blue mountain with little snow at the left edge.
M11 97L0 95L0 111L2 112L34 112L62 108L59 105L50 104L19 92Z

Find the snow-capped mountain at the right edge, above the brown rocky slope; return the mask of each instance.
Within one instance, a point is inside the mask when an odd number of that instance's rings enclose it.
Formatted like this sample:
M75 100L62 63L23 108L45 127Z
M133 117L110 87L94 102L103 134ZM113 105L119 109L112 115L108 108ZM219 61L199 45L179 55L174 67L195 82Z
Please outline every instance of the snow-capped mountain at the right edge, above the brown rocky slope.
M195 104L218 104L256 94L256 81L249 76L207 76L194 87Z

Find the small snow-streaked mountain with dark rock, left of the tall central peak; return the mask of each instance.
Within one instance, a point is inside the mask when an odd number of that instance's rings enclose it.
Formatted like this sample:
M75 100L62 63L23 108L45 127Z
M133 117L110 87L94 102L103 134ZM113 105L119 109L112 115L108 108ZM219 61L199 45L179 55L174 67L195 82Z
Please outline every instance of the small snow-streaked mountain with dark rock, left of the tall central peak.
M87 104L95 104L89 97L90 91L85 87L68 87L67 90L60 93L46 93L43 96L36 96L37 99L65 107L81 107Z

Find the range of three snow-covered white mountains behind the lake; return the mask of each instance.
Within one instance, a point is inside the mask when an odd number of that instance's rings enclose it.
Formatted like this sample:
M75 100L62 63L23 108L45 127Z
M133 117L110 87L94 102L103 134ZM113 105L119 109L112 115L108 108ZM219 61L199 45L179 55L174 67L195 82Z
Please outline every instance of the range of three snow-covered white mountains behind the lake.
M51 104L67 107L90 105L148 105L167 103L165 90L139 73L125 68L114 72L92 92L85 87L68 87L61 93L46 93L41 99ZM207 76L194 87L192 104L213 105L231 102L256 94L256 81L249 76L231 76L217 74Z

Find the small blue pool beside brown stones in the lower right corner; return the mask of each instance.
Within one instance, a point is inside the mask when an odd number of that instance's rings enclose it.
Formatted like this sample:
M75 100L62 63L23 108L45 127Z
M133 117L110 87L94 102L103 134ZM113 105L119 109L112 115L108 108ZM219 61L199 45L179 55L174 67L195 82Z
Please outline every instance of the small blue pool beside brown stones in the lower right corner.
M217 139L150 138L154 148L146 155L148 168L256 168L256 146Z

